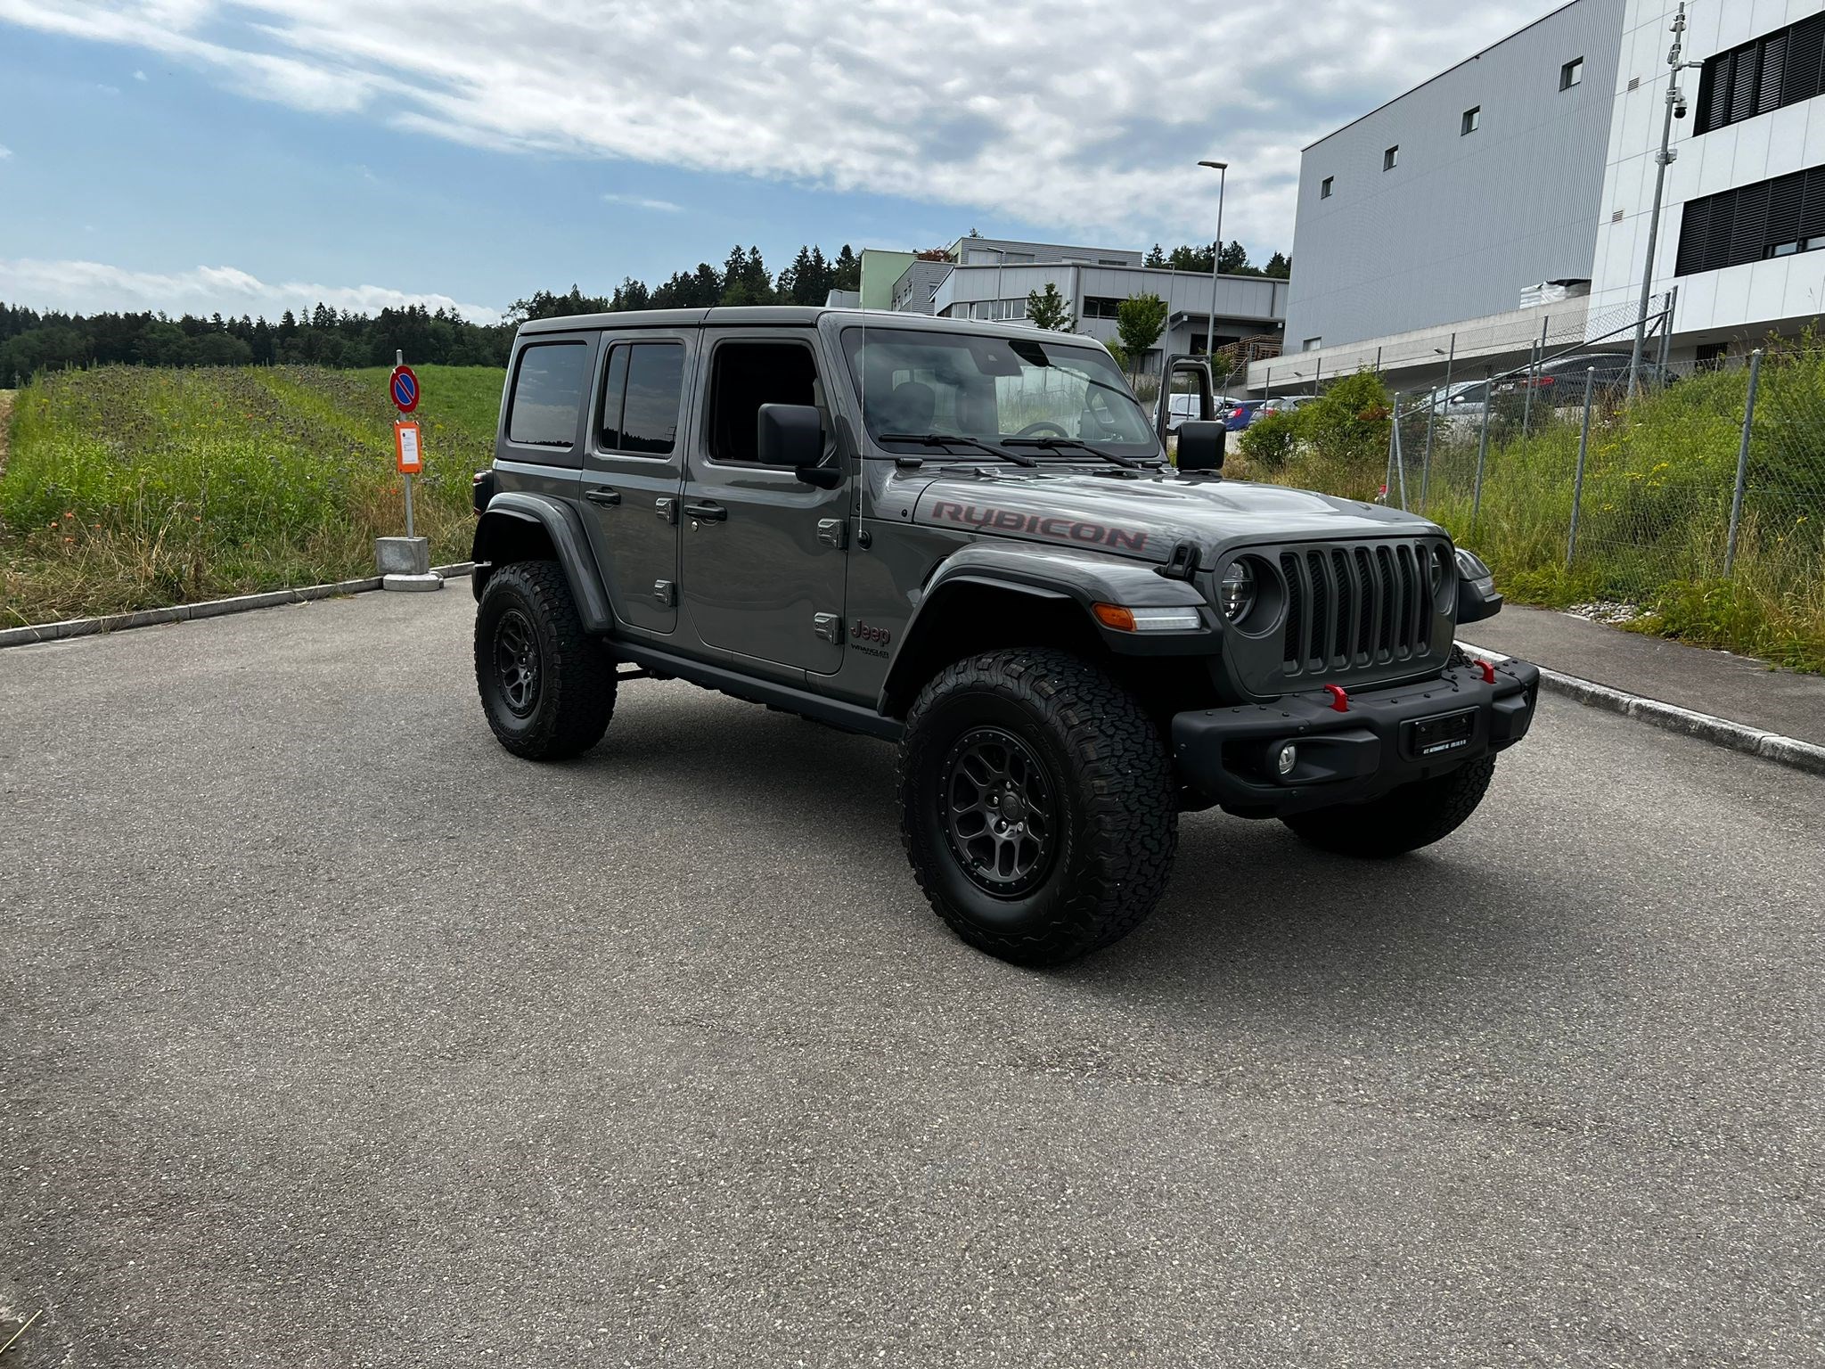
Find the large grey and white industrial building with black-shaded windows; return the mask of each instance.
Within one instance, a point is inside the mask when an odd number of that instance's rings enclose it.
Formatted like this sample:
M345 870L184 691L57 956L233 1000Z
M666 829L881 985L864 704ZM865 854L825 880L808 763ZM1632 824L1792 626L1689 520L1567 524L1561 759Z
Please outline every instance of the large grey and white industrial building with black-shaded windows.
M1309 146L1283 392L1615 341L1639 314L1677 0L1571 0ZM1825 0L1690 0L1652 294L1674 360L1825 298Z

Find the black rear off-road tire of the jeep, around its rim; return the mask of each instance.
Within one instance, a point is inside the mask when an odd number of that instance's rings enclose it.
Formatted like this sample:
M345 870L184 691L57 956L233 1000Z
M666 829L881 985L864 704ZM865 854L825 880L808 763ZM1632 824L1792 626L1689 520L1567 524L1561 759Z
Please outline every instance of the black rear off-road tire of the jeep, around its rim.
M518 706L496 661L504 626L535 650L535 686ZM555 560L518 560L489 577L474 613L474 681L489 728L515 756L562 761L602 739L615 712L615 659L584 633Z

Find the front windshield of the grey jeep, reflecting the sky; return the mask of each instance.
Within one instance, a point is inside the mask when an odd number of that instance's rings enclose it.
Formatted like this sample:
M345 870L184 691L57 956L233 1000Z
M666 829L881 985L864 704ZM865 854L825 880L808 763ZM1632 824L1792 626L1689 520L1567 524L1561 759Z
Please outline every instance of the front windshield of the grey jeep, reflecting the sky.
M1102 347L1046 338L849 329L869 436L1068 438L1155 455L1148 416Z

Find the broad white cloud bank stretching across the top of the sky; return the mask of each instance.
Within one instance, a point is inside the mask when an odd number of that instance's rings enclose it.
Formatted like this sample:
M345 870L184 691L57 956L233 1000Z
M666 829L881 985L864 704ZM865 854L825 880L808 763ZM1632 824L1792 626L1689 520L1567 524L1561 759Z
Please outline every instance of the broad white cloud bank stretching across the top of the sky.
M1548 0L0 0L288 106L1122 243L1292 237L1299 148ZM929 215L922 215L929 217Z

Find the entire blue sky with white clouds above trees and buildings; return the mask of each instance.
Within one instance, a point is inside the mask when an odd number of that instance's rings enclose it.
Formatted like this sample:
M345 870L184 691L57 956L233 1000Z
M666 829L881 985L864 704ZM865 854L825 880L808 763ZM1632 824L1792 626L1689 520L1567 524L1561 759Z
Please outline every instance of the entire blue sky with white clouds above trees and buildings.
M759 245L1292 246L1299 148L1557 0L0 0L0 299L606 292Z

